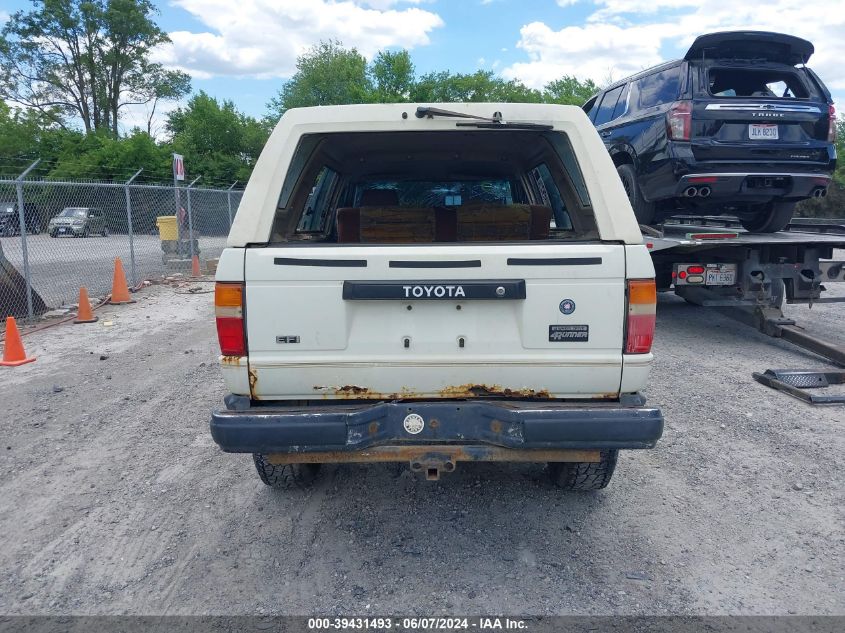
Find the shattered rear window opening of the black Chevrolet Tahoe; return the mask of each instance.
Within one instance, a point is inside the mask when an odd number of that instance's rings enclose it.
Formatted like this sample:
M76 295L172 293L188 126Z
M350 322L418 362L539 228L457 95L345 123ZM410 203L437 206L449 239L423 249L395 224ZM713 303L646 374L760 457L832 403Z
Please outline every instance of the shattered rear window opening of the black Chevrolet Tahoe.
M708 89L714 97L776 97L806 99L810 95L800 77L787 70L711 68Z

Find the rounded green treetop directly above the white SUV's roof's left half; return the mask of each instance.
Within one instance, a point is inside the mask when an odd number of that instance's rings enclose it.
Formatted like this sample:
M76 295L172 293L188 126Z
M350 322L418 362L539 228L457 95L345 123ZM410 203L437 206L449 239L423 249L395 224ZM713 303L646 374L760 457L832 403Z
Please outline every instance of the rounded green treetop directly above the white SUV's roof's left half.
M338 41L320 42L297 58L296 73L268 104L269 116L278 119L290 108L367 103L372 98L364 56Z

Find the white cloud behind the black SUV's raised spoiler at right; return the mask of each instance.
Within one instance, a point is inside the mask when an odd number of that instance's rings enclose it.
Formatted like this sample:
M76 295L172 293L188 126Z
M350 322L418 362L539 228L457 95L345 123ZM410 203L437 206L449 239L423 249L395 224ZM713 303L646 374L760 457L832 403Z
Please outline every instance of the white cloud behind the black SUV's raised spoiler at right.
M581 25L559 31L542 22L523 26L517 46L529 61L512 64L502 74L534 87L563 74L604 83L608 75L619 79L683 55L703 33L753 29L788 32L813 42L816 53L809 65L839 94L840 103L845 101L841 62L845 0L832 0L823 8L810 7L805 0L771 0L765 5L737 0L593 0L593 4L596 11Z

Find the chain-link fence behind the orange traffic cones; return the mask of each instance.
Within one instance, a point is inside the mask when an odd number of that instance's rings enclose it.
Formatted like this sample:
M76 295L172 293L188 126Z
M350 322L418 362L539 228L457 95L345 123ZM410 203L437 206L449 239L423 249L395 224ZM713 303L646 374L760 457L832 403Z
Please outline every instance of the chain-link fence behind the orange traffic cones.
M0 317L37 318L75 303L80 286L107 294L116 257L130 285L190 271L193 255L205 270L225 246L242 193L0 179Z

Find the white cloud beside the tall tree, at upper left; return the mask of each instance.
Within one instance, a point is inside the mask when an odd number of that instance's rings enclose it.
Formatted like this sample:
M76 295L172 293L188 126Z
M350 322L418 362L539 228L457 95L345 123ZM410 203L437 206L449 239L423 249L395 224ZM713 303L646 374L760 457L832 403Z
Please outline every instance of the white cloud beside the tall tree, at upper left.
M320 40L337 39L371 57L391 46L429 43L441 26L419 0L174 0L208 31L169 33L156 60L197 78L215 75L289 77L296 57ZM398 8L391 8L397 6Z

